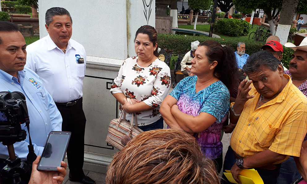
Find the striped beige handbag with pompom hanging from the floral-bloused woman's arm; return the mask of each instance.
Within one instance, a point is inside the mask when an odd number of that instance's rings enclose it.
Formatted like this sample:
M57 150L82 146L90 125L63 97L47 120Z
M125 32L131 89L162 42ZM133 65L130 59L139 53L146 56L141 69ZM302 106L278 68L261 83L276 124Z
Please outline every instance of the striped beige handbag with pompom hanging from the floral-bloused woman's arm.
M123 149L129 140L143 132L137 127L135 113L132 114L130 123L125 118L126 112L122 111L119 118L110 122L108 135L106 136L106 142L119 150ZM133 119L135 119L136 125L133 125Z

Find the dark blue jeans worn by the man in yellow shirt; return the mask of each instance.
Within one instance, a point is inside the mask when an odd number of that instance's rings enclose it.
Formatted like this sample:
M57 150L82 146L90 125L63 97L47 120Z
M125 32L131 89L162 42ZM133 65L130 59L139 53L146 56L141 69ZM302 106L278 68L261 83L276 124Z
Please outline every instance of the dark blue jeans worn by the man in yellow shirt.
M227 153L225 155L225 160L224 160L224 167L223 167L223 172L225 170L230 170L231 167L236 163L236 157L235 153L231 149L231 147L228 147ZM253 168L258 171L260 177L262 178L264 184L275 184L277 182L277 177L279 175L279 169L280 169L280 164L276 165L276 169L274 170L269 170L269 169L262 169L262 168ZM252 169L252 168L249 168ZM231 184L226 178L226 176L223 174L222 181L221 183L223 184Z

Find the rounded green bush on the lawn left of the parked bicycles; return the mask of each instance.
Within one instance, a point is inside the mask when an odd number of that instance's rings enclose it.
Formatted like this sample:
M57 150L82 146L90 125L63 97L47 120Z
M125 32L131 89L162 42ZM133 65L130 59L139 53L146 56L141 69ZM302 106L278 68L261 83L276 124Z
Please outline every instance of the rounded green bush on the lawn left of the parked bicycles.
M224 35L247 35L250 30L249 23L239 19L219 19L214 25L214 30Z

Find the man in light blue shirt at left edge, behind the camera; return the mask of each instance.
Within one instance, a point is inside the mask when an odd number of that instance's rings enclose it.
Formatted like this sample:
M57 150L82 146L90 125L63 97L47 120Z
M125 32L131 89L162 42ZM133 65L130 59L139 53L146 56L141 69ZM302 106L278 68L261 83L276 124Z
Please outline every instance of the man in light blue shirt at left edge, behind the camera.
M28 68L26 43L15 24L0 21L0 91L19 91L26 98L30 118L30 135L34 152L41 155L50 131L61 131L62 117L40 77ZM0 122L1 123L1 122ZM29 133L24 141L14 144L21 159L28 155ZM0 143L0 159L8 158L6 146Z

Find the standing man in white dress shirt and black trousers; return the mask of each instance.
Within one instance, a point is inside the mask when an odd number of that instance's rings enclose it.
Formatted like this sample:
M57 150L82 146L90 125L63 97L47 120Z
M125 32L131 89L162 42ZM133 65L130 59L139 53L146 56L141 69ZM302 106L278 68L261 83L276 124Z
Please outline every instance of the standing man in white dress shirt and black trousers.
M62 131L71 132L67 149L70 181L94 184L82 170L86 122L82 109L85 50L70 39L72 19L66 9L50 8L45 22L49 35L28 45L26 67L41 77L53 97L63 118Z

